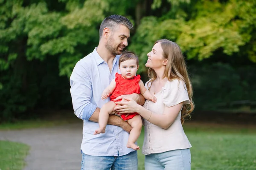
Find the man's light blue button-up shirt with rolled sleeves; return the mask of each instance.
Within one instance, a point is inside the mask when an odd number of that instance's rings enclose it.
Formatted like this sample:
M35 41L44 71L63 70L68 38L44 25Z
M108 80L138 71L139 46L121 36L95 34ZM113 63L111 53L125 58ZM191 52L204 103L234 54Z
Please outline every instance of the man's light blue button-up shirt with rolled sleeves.
M134 151L126 147L128 133L121 127L107 125L105 133L93 135L99 124L89 121L96 108L102 108L109 101L109 98L102 100L101 94L119 72L119 56L114 58L110 72L96 49L76 63L70 77L73 108L76 116L84 120L81 150L91 156L117 156L118 152L123 156Z

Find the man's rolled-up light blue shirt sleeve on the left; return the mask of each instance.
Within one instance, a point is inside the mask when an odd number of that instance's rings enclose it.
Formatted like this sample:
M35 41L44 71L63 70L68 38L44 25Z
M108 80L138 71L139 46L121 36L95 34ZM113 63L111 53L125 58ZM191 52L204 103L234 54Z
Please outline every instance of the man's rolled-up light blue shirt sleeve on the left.
M92 83L85 65L79 61L70 76L70 93L75 114L80 119L89 120L97 106L91 103Z

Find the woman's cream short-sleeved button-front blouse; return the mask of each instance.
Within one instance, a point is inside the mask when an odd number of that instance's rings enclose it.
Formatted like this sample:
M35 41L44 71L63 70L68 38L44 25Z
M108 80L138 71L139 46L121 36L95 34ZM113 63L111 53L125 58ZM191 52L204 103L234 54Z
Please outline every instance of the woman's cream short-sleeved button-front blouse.
M145 88L148 89L147 84L148 82L145 84ZM182 80L179 81L178 79L166 82L162 91L155 94L155 96L157 97L157 102L153 103L146 100L143 107L156 114L163 114L165 106L172 107L180 102L183 102L183 104L190 103L186 85ZM180 116L181 111L175 122L167 129L151 124L144 119L145 133L142 148L144 155L192 147L184 133Z

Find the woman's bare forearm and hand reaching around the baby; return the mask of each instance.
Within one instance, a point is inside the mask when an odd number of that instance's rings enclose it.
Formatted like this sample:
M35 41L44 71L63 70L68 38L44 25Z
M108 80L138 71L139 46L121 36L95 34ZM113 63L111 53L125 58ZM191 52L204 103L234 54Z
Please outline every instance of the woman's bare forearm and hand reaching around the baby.
M125 98L126 99L126 98ZM144 119L147 119L154 125L167 129L172 125L172 123L177 118L183 103L179 103L172 107L165 107L163 114L152 113L151 111L145 109L143 106L138 105L133 99L126 99L128 102L116 102L122 106L116 107L115 110L119 113L131 113L137 112ZM124 110L123 110L124 109Z

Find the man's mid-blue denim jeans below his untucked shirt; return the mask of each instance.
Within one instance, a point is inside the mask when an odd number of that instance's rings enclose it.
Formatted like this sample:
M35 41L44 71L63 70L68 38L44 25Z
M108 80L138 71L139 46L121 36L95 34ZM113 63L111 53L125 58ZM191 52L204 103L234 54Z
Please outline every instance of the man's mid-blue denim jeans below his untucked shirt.
M90 156L82 153L81 170L137 170L137 151L124 156Z

